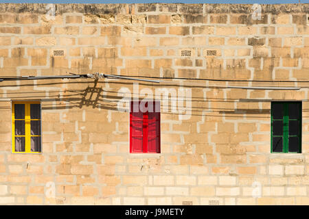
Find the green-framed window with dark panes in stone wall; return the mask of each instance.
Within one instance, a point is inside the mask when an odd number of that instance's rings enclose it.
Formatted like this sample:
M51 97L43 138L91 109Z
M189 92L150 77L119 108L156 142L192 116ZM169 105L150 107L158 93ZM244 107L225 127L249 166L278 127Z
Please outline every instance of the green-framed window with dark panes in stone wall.
M271 103L271 153L301 153L301 102Z

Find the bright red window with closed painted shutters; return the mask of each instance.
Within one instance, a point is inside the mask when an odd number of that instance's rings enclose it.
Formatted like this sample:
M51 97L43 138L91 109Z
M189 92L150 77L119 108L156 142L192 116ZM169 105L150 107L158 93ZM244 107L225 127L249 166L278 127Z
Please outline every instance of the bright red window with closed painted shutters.
M160 102L131 102L130 153L160 153Z

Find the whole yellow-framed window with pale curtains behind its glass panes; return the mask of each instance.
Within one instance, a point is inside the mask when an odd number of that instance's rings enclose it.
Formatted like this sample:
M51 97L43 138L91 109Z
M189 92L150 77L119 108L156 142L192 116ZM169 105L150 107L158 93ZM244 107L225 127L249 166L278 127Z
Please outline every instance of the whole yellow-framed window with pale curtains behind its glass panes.
M41 153L40 102L12 102L12 153Z

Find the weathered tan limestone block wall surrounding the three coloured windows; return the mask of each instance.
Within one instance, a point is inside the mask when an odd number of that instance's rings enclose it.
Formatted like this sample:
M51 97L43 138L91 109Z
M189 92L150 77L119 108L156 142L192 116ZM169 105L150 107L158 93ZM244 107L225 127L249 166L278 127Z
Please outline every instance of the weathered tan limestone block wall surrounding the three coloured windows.
M168 79L0 82L0 204L308 205L309 4L261 9L254 19L252 5L1 3L1 77ZM156 96L161 153L129 153L124 88L172 89ZM162 101L181 96L190 118ZM41 154L12 153L18 100L41 101ZM302 101L301 153L271 153L271 101L280 100Z

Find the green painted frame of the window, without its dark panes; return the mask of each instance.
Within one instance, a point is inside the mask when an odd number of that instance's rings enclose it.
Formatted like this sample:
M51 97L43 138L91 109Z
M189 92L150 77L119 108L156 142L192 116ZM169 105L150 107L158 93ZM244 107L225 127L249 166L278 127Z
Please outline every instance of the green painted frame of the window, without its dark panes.
M283 112L283 117L282 117L282 152L276 152L273 151L273 121L276 120L273 118L273 104L283 104L284 107L284 112ZM298 119L290 119L288 116L288 105L291 103L298 103L299 104L299 118ZM281 120L281 119L278 119ZM289 125L289 120L299 120L299 145L298 145L298 151L288 151L288 137L290 136L288 133L288 125ZM302 101L272 101L271 102L271 153L301 153L301 137L302 137ZM286 125L285 125L286 124Z

